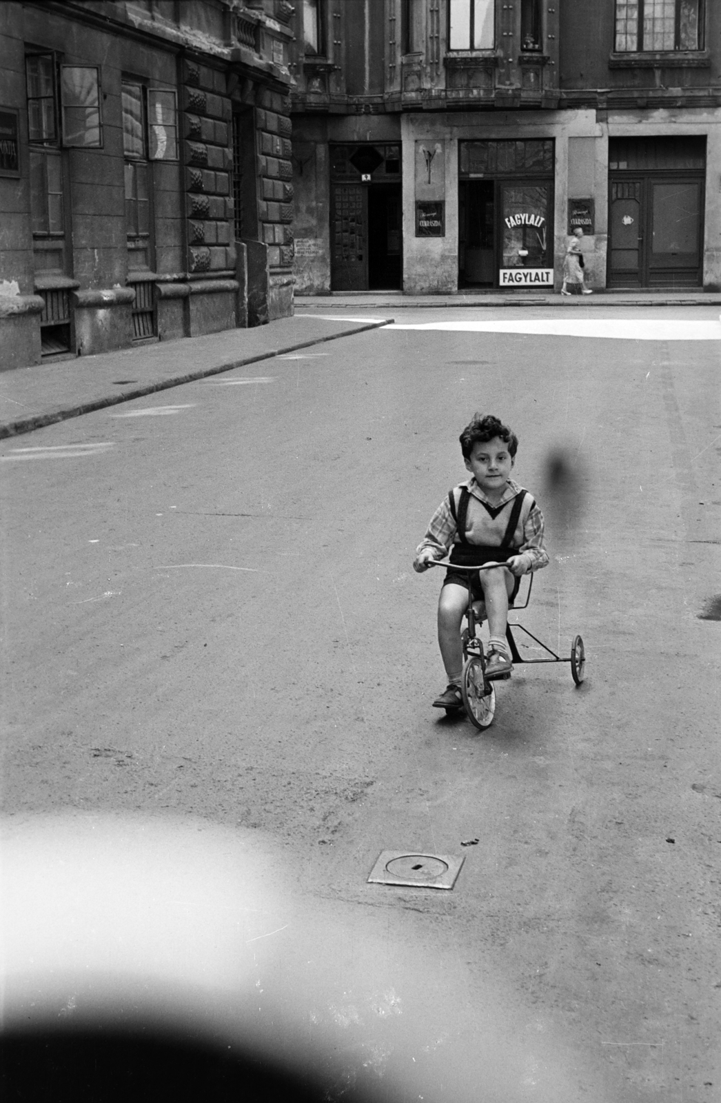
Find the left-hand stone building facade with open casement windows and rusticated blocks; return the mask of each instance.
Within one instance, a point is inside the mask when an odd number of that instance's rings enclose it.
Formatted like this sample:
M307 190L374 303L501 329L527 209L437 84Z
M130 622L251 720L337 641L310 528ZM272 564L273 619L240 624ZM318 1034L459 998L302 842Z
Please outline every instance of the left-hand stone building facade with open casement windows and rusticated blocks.
M0 6L0 368L292 312L291 14Z

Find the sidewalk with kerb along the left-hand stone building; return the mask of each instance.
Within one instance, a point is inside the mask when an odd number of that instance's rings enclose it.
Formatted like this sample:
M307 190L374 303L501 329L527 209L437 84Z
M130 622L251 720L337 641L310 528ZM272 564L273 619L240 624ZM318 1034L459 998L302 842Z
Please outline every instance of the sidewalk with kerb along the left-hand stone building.
M392 321L308 318L302 303L298 309L294 318L251 330L224 330L2 372L0 439Z

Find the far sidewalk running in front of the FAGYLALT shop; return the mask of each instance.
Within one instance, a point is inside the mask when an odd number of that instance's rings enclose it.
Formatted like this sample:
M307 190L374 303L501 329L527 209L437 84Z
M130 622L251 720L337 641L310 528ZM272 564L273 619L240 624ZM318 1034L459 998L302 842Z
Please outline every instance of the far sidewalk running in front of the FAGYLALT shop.
M558 291L483 291L477 295L403 295L402 291L333 291L331 295L295 293L295 310L438 310L440 307L719 307L721 293L664 289L661 291L594 291L562 296Z

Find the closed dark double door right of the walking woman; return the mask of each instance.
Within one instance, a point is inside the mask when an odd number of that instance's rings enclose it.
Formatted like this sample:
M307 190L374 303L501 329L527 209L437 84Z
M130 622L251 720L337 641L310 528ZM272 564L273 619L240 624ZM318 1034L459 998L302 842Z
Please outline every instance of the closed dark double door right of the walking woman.
M700 287L703 174L611 173L609 287Z

